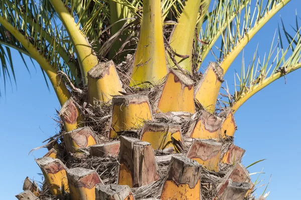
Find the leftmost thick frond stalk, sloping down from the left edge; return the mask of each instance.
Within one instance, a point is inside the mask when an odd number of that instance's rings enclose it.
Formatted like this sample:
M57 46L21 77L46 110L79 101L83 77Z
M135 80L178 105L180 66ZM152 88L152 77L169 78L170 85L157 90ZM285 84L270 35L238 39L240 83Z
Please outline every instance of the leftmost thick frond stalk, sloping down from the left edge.
M57 75L57 70L54 69L50 65L49 61L47 61L47 59L42 54L40 54L37 48L27 40L26 36L23 35L19 30L17 30L3 16L0 16L0 23L22 43L22 45L27 49L32 57L40 64L40 66L48 75L60 101L60 104L63 105L68 100L68 98L70 98L71 94L64 82Z

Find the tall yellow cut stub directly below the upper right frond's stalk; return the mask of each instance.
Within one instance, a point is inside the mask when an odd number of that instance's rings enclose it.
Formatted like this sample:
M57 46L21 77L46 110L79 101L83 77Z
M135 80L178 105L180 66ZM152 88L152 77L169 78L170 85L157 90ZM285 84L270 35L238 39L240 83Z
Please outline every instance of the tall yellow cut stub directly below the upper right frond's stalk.
M216 62L211 62L202 79L195 88L195 98L203 107L213 113L221 83L223 69Z

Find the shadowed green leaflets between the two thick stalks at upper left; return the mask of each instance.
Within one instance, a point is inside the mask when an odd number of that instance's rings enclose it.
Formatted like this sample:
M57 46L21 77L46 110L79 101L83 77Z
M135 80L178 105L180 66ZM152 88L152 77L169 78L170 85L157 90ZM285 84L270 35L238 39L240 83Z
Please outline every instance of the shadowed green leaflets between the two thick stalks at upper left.
M44 7L49 7L47 2L38 4L34 0L3 0L0 5L0 14L24 34L28 42L32 43L54 68L65 71L72 80L79 82L77 63L75 59L72 59L73 46L63 26L56 23L54 12L44 9ZM13 47L31 56L4 26L0 26L0 38L2 45ZM6 52L3 55L11 56L10 51L3 52ZM4 61L2 65L6 67ZM27 66L26 63L25 66Z

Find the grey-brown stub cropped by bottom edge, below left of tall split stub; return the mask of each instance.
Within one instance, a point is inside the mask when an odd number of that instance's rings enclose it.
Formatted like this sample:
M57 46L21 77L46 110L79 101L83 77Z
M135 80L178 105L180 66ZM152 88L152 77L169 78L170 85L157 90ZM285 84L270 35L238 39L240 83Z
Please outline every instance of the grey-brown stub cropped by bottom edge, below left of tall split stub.
M134 200L132 191L128 185L96 184L96 200Z

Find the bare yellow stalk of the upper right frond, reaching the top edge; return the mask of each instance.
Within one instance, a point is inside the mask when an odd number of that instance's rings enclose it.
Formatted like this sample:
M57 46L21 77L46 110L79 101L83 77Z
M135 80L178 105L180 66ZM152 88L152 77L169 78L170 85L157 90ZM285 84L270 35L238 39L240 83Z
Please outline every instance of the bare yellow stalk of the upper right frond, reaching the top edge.
M270 10L268 10L268 12L266 12L266 14L262 18L260 18L259 21L255 22L254 26L248 32L246 32L242 38L239 38L238 42L233 46L233 49L225 55L225 58L221 63L224 74L227 72L228 68L237 57L237 55L252 39L252 37L265 25L267 21L272 18L272 16L274 16L289 1L290 0L280 0L278 3L274 4L274 6Z

